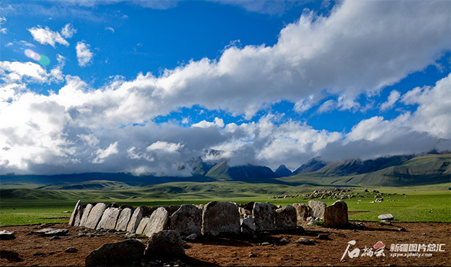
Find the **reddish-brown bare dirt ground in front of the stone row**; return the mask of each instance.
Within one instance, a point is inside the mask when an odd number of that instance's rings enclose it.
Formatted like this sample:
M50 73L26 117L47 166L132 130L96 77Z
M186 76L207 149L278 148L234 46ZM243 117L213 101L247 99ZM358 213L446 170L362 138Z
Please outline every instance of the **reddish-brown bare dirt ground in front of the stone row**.
M357 222L353 222L357 223ZM450 266L451 264L451 223L393 223L379 225L364 222L364 228L332 229L321 226L305 226L305 231L263 233L258 236L218 236L202 237L187 242L186 257L178 262L154 261L153 265L166 263L180 266ZM0 266L85 266L85 256L107 242L125 240L123 234L104 232L97 236L94 231L86 236L79 235L84 228L74 228L67 224L51 227L69 229L66 236L59 239L27 235L39 225L8 226L0 230L13 231L14 240L0 240ZM404 228L405 231L400 231ZM89 234L93 236L89 236ZM327 235L323 240L319 234ZM300 237L314 242L313 245L298 244ZM285 238L289 242L280 242ZM147 237L142 237L147 242ZM347 242L355 240L349 251L359 248L359 256L346 255L340 261ZM364 247L373 247L376 242L385 244L385 256L362 256ZM262 244L268 242L269 244ZM391 244L445 244L444 252L420 252L421 256L393 257ZM68 247L78 249L68 253ZM372 249L373 252L375 249ZM402 253L402 252L396 252Z

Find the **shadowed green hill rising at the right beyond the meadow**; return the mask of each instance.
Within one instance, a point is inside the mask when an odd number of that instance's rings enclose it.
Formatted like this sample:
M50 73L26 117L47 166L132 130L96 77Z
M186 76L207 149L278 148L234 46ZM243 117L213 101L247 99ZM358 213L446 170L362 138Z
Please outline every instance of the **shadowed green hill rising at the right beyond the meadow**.
M288 182L290 185L433 185L451 182L450 165L451 154L396 156L371 161L328 163L313 173L301 173L278 180Z

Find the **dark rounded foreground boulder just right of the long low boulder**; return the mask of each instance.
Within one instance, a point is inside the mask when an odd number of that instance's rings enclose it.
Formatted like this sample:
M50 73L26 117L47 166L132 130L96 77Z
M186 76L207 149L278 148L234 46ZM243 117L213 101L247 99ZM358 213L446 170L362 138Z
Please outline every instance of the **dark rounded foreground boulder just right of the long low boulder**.
M163 259L185 254L185 242L177 231L154 232L147 242L144 256L148 259Z

